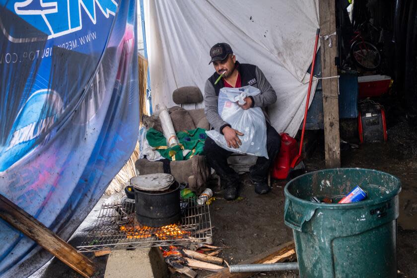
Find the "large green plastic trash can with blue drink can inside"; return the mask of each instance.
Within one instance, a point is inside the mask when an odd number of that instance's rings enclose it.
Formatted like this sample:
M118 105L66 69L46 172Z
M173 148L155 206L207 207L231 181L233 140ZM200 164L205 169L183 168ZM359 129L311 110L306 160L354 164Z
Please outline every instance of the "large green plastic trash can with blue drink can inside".
M367 199L337 204L355 186ZM301 278L397 277L398 178L376 170L326 169L285 186ZM333 198L333 204L310 202Z

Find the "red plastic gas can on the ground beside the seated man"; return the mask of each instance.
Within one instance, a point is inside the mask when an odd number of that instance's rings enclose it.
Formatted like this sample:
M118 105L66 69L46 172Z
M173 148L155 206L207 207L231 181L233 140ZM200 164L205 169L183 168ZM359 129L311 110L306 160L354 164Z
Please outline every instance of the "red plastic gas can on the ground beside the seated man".
M271 176L277 180L287 178L291 168L291 161L298 154L297 141L286 133L281 133L281 149L275 159L271 170Z

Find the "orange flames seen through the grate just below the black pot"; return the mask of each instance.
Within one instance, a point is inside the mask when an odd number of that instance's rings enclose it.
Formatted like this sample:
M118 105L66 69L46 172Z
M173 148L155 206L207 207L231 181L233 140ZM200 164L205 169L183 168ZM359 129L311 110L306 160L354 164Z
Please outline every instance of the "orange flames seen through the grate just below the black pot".
M177 224L162 226L160 228L152 228L140 225L126 225L120 226L120 230L126 232L129 239L149 238L156 235L161 240L170 238L183 238L190 234L190 232L181 230Z

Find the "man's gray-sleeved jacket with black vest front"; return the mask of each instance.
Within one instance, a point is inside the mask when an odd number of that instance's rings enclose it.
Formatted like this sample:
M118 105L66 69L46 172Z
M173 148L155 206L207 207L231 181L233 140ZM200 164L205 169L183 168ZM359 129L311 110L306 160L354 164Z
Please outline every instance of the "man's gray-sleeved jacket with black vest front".
M268 105L277 101L277 94L274 88L268 82L264 73L257 66L251 64L240 64L238 61L236 61L236 66L238 67L240 73L242 87L251 85L261 90L259 95L252 97L252 107L262 107L265 119L269 122L266 108ZM211 75L206 81L206 85L204 87L204 111L211 127L222 134L221 130L225 126L230 125L221 119L217 110L218 94L220 89L224 87L223 79L220 79L220 81L214 85L218 76L219 74L214 72L213 75Z

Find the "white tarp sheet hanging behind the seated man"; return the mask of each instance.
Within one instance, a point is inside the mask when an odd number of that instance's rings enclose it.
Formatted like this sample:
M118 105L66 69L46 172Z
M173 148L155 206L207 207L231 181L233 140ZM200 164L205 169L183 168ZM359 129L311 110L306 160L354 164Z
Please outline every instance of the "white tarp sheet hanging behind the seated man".
M182 86L198 86L204 94L214 72L210 47L227 42L240 63L257 65L276 90L272 125L296 134L319 27L318 0L145 0L144 12L153 106L175 105L172 92Z

